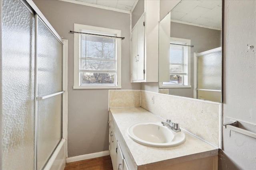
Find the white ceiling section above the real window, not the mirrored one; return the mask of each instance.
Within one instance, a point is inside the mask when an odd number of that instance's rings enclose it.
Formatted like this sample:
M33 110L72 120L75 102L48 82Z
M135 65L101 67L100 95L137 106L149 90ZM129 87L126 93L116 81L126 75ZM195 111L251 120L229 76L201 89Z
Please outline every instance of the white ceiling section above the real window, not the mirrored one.
M130 13L136 6L138 0L62 0L75 4L93 6L96 8L104 8L115 10L118 12Z

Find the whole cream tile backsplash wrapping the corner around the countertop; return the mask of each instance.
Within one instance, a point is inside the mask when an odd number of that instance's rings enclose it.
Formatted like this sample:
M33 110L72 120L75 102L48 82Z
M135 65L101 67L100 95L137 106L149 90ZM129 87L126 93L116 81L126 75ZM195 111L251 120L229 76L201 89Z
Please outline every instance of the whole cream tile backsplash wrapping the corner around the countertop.
M221 148L221 103L144 90L109 90L109 107L140 106L164 119L180 123L181 128Z

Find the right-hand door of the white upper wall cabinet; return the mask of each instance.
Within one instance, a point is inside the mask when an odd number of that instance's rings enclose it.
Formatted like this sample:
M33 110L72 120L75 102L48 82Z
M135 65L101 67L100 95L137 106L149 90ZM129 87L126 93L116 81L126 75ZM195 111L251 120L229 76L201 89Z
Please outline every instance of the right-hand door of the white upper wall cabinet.
M144 16L137 23L137 80L144 80Z

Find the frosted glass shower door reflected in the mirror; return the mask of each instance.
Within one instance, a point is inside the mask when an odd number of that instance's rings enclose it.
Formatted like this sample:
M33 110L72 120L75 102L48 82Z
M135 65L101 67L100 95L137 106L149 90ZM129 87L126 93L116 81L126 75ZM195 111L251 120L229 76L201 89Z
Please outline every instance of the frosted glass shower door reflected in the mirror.
M197 98L222 101L222 51L221 47L197 55Z

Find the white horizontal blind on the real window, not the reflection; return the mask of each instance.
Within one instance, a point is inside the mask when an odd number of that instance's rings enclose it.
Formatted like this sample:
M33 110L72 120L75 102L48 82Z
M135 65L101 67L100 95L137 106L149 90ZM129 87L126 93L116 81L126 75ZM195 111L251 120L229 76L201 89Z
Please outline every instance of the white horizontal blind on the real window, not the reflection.
M80 72L116 73L116 38L79 35Z

